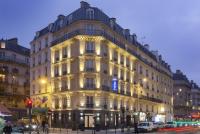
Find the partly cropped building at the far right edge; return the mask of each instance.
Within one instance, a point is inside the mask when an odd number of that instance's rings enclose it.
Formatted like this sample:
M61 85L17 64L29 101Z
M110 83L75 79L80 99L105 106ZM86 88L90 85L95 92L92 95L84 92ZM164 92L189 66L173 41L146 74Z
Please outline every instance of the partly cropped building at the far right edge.
M192 85L192 93L191 93L192 111L200 112L200 87L194 81L191 81L191 85Z

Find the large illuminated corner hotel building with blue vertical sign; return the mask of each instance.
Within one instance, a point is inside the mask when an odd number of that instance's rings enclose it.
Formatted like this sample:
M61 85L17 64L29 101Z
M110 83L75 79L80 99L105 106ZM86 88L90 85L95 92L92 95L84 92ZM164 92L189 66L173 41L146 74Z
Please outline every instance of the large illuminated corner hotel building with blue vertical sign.
M30 79L34 107L52 111L53 127L111 128L173 116L170 66L83 1L36 33Z

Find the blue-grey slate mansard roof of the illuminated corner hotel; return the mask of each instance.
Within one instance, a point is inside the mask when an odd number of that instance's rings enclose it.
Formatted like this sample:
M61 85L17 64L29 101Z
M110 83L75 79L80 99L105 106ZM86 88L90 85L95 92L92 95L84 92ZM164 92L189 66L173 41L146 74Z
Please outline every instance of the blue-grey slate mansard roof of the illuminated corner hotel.
M74 23L74 22L76 22L78 20L91 20L86 15L86 10L88 8L94 10L94 18L92 20L101 21L102 23L106 24L107 26L112 28L115 32L117 32L118 34L123 36L131 44L138 46L140 50L142 50L144 53L146 53L148 56L150 56L153 60L155 60L156 62L160 62L161 65L163 65L167 70L169 70L171 72L170 66L167 63L165 63L164 61L158 60L156 58L156 56L151 51L146 49L137 40L131 40L131 37L133 37L134 34L131 35L128 29L122 28L116 22L114 22L114 26L111 27L110 20L112 18L110 18L108 15L106 15L100 9L98 9L96 7L91 7L87 2L83 2L83 1L81 2L81 7L80 8L78 8L77 10L75 10L74 12L72 12L71 14L69 14L67 16L59 15L57 20L54 23L51 23L47 27L45 27L44 29L38 31L36 36L35 36L35 38L34 38L34 40L39 38L39 37L41 37L41 36L43 36L43 35L45 35L45 34L47 34L47 33L49 33L49 32L52 32L52 33L57 32L60 29L62 29L63 27L66 27L69 24Z

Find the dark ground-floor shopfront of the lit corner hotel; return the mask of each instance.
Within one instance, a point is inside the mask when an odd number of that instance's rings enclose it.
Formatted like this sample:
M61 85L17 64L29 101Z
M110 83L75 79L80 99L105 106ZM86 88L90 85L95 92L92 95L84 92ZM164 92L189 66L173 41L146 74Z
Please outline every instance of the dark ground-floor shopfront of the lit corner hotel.
M52 111L50 125L54 128L106 129L133 126L134 122L156 121L159 114L124 110L65 110ZM158 116L158 117L157 117ZM161 116L166 121L166 115ZM164 119L163 119L164 118ZM161 119L160 119L161 120ZM169 121L169 120L168 120Z

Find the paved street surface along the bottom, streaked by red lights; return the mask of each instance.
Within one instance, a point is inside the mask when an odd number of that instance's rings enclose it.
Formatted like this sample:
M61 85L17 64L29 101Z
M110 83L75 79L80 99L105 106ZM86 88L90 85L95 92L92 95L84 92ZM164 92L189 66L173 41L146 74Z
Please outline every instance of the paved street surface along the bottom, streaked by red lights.
M28 134L28 133L25 133ZM32 133L36 134L36 133ZM39 134L45 134L43 132L40 132ZM50 129L49 134L134 134L134 130L131 129L130 132L121 132L120 129L115 130L101 130L98 132L93 132L92 130L85 130L85 131L71 131L67 129ZM143 133L140 133L143 134ZM152 133L145 133L145 134L200 134L200 128L184 128L184 129L174 129L172 130L165 130L165 131L159 131L159 132L152 132Z

